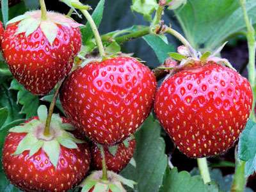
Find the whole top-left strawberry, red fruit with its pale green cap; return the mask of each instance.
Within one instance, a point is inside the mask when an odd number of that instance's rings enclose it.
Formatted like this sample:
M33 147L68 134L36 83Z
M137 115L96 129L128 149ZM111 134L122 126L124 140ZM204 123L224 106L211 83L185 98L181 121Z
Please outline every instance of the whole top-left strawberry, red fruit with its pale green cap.
M44 95L70 72L81 48L80 24L60 13L26 12L8 22L3 56L13 76L35 95Z

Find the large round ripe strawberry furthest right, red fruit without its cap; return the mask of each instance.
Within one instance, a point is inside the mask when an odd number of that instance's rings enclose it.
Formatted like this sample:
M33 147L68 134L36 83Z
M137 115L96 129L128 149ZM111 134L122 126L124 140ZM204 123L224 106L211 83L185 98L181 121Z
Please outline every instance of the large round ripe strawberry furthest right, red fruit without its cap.
M157 118L188 157L214 156L232 147L251 109L247 79L213 62L169 77L155 102Z

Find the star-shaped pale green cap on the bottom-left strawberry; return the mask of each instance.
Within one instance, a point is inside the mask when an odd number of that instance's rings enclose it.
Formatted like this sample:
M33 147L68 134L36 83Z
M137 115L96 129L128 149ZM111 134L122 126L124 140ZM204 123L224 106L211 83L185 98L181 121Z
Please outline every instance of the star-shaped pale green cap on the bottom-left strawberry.
M51 134L44 136L45 121L47 118L46 106L38 108L38 119L33 119L24 125L13 127L9 132L28 133L19 143L14 156L28 150L29 157L33 156L42 148L49 157L52 165L56 168L60 156L60 146L65 148L77 148L77 143L84 143L78 140L73 134L67 131L74 131L71 124L63 123L60 115L52 114Z

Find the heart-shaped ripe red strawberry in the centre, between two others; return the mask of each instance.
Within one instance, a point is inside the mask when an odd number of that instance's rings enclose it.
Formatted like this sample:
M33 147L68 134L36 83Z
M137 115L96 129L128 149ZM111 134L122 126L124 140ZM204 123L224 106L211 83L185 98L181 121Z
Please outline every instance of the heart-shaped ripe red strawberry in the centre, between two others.
M63 84L61 104L71 122L95 143L115 145L147 118L156 77L134 58L88 63Z

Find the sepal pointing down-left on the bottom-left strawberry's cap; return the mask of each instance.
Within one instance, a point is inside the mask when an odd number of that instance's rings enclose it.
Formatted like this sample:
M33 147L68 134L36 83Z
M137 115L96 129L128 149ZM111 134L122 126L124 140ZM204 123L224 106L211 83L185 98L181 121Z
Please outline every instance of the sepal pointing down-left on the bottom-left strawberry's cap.
M17 149L13 153L13 155L22 154L25 150L30 150L30 148L35 145L38 139L32 134L28 133L19 143Z

